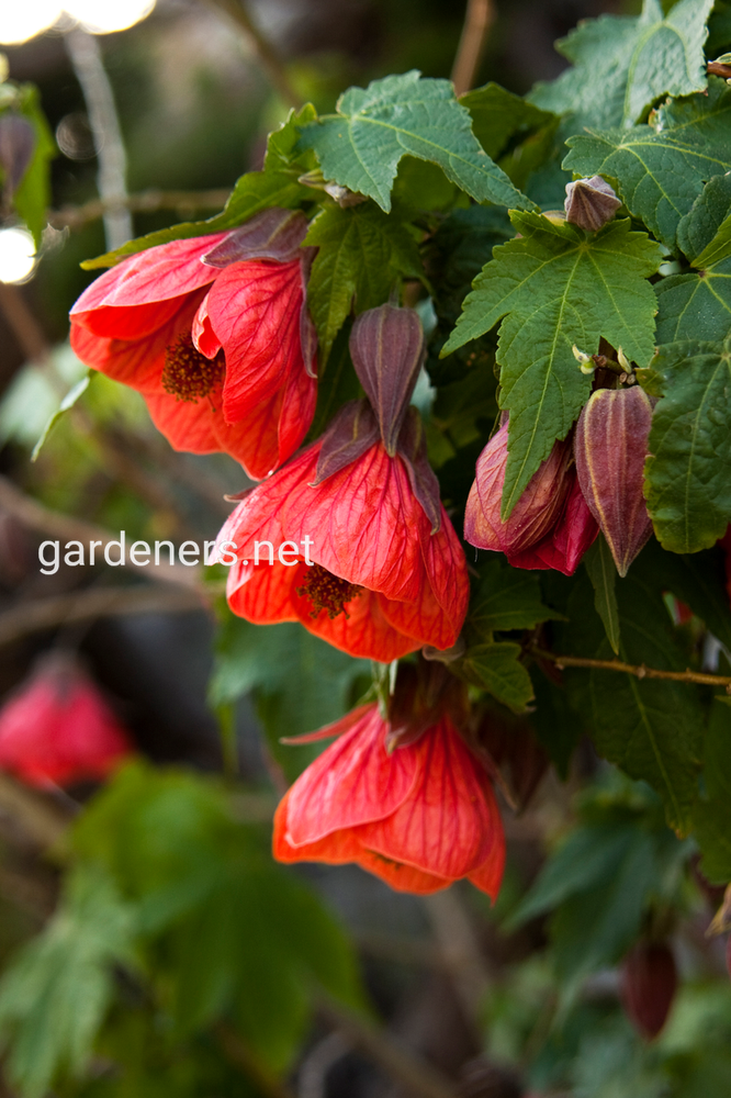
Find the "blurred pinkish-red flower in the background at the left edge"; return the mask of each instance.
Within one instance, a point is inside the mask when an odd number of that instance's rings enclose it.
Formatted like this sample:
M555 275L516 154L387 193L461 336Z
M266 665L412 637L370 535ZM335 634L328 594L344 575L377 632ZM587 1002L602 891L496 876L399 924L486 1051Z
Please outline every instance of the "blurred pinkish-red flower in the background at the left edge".
M98 687L61 653L46 657L0 709L0 770L30 785L106 777L131 751Z

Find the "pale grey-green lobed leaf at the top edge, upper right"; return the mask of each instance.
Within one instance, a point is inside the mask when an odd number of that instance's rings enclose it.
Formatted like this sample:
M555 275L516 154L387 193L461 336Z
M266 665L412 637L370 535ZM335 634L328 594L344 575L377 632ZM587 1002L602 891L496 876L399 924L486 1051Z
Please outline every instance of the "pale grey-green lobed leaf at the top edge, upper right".
M530 99L555 114L571 112L581 126L631 126L662 96L706 88L704 44L713 0L681 0L663 14L644 0L642 14L587 20L558 43L574 63Z

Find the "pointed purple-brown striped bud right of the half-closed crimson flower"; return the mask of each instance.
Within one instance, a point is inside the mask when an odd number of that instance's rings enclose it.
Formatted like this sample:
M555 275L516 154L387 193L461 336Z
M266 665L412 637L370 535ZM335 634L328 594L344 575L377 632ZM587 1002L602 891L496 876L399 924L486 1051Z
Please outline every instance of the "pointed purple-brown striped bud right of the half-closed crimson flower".
M652 404L639 385L597 389L576 425L576 472L620 575L652 534L642 495Z

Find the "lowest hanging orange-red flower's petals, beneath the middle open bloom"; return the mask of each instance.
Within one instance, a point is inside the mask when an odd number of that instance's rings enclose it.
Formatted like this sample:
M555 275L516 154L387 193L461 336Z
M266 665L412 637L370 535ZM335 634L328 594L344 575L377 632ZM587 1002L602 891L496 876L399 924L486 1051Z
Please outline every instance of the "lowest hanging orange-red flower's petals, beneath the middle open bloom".
M356 862L400 892L438 892L466 877L495 899L505 838L482 762L446 713L391 753L389 730L378 705L323 729L339 738L279 805L274 858Z

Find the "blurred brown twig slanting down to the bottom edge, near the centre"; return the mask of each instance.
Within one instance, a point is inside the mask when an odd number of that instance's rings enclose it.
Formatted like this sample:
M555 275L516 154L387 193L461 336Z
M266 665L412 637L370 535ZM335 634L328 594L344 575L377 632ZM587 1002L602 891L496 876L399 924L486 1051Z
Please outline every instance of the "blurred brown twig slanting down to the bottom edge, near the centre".
M329 997L317 997L317 1013L415 1098L457 1098L457 1088L431 1064L406 1052L383 1030Z

